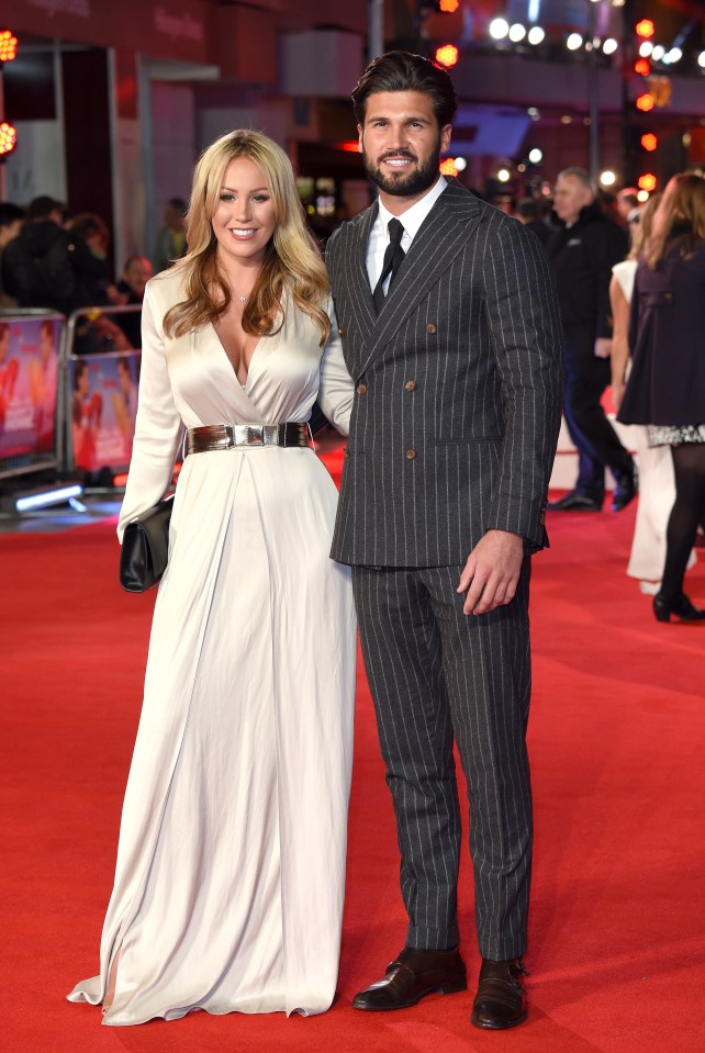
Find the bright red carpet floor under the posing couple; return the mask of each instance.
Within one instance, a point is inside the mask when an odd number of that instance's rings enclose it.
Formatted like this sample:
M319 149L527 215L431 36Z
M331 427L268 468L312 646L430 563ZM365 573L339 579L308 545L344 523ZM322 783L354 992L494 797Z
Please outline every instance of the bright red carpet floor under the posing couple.
M658 625L625 576L634 509L560 515L535 560L531 1012L484 1033L469 996L350 998L403 943L392 814L359 683L339 996L321 1017L101 1028L96 972L153 597L116 583L114 525L0 538L0 1033L47 1053L687 1053L705 1050L705 626ZM705 563L689 575L705 602ZM465 953L478 960L467 858ZM312 904L312 910L315 904Z

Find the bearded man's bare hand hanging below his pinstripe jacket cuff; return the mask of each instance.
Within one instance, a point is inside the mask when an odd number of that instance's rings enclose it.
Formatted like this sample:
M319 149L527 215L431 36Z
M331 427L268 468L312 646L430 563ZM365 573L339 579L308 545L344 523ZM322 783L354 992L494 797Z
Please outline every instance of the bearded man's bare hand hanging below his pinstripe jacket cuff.
M511 603L524 562L524 539L507 530L488 530L468 557L458 592L467 592L463 614L488 614Z

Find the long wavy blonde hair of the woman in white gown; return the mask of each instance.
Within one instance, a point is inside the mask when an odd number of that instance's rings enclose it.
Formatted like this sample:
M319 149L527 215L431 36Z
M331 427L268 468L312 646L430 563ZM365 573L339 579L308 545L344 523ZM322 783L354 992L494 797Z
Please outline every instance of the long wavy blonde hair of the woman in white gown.
M243 312L243 329L253 336L278 332L272 326L288 292L294 304L318 327L323 345L331 332L331 322L323 309L329 289L328 276L305 226L291 161L272 139L260 132L244 128L216 139L201 155L193 171L187 213L189 251L176 265L183 276L184 300L167 312L165 333L167 336L182 336L208 322L217 321L230 305L231 291L219 266L212 220L220 203L225 170L237 157L248 158L260 169L271 193L276 223L261 270ZM281 324L283 317L279 328Z

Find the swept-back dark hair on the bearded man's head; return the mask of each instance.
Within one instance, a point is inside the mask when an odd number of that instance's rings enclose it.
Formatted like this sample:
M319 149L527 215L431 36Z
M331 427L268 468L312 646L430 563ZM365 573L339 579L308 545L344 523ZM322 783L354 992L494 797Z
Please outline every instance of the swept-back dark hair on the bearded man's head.
M365 124L368 98L380 91L419 91L429 96L439 128L452 122L458 109L456 89L446 70L411 52L388 52L367 67L352 89L358 124Z

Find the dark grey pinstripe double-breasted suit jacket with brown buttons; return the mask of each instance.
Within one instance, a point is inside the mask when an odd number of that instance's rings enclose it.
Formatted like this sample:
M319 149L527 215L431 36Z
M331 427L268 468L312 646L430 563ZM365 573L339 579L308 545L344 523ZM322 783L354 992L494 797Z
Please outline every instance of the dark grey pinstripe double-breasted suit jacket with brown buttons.
M332 554L462 564L492 528L536 550L562 394L544 249L451 180L378 315L366 267L377 209L344 223L326 254L356 383Z

